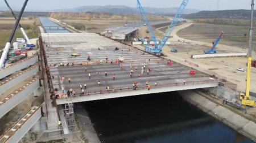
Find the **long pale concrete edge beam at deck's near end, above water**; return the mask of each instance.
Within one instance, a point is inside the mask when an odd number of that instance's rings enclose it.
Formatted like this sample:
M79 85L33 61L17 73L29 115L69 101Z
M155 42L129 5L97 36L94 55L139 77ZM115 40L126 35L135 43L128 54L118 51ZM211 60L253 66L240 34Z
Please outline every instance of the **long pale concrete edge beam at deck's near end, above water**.
M158 86L158 85L157 85ZM159 85L160 86L160 85ZM191 85L174 85L174 86L167 86L163 88L153 88L150 90L141 89L141 90L125 90L122 92L119 92L120 90L116 90L115 93L105 93L105 94L95 94L95 95L89 95L89 96L77 96L73 97L71 100L67 99L57 99L57 105L70 103L70 102L85 102L85 101L94 101L94 100L100 100L100 99L109 99L109 98L118 98L118 97L127 97L127 96L138 96L143 94L152 94L152 93L163 93L163 92L174 92L177 90L189 90L189 89L200 89L200 88L210 88L218 86L218 83L212 82L212 83L204 83L204 84L191 84Z

